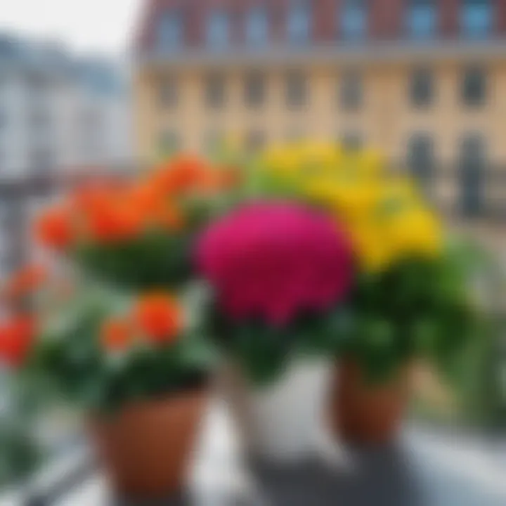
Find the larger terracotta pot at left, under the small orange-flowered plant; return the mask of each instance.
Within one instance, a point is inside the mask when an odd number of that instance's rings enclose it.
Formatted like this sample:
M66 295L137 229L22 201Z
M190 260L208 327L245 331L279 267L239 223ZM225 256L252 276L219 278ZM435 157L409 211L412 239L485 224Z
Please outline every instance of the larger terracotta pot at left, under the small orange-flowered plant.
M156 499L182 490L207 398L207 391L193 391L91 420L91 436L118 495Z

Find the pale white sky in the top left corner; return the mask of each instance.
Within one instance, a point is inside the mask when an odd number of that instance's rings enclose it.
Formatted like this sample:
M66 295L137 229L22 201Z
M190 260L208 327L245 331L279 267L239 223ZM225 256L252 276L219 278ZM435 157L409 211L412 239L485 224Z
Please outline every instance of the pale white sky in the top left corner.
M119 55L143 0L0 0L0 33L62 41L79 53Z

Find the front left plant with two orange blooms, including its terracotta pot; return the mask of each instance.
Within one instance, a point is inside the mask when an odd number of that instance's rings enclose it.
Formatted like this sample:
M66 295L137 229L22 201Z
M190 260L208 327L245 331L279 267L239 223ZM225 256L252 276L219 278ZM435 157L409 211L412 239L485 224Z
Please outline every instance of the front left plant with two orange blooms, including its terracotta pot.
M162 498L184 484L212 353L172 294L93 294L42 325L26 374L84 410L112 486Z

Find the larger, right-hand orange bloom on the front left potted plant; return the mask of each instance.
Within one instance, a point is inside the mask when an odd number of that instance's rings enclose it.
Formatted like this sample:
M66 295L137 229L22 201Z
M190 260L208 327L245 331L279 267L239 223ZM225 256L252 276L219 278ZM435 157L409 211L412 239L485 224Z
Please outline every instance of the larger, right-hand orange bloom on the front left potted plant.
M134 320L152 342L172 342L181 330L182 311L176 299L163 293L152 293L138 300Z

